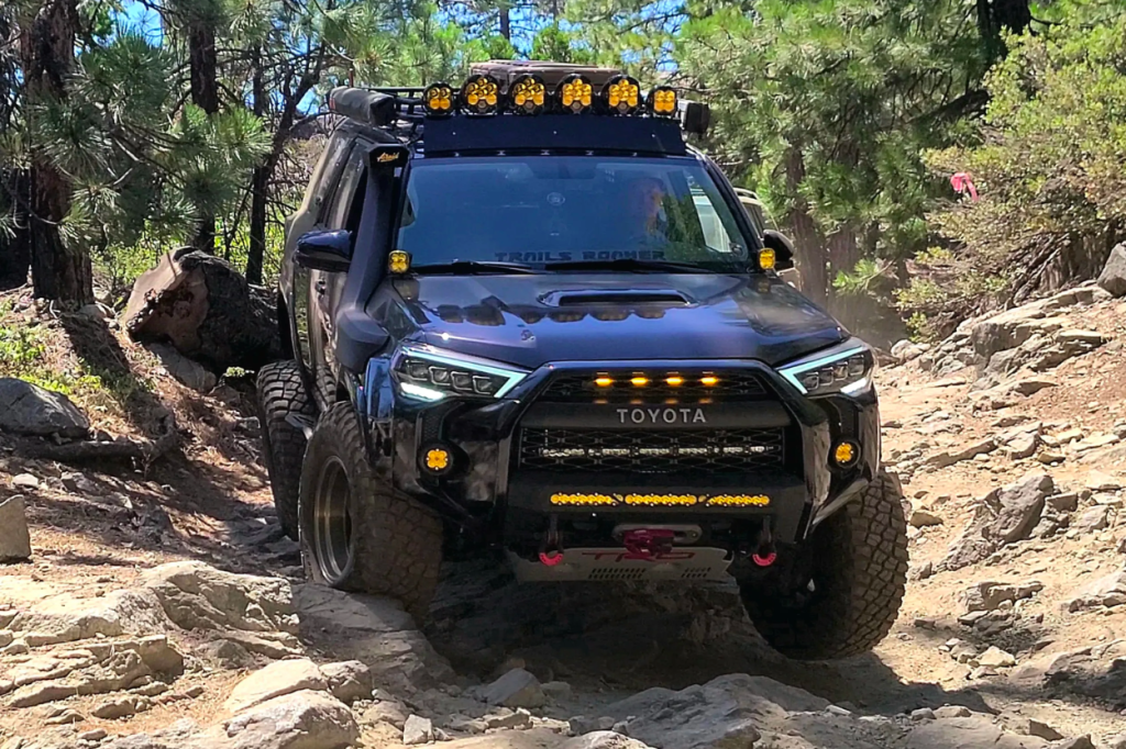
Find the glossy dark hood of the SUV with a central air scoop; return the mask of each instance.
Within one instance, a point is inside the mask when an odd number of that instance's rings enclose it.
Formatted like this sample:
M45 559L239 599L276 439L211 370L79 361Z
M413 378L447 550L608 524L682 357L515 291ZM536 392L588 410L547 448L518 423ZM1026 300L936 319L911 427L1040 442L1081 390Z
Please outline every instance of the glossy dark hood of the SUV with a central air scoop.
M394 286L426 343L528 369L629 359L777 364L848 336L788 283L766 277L423 276Z

